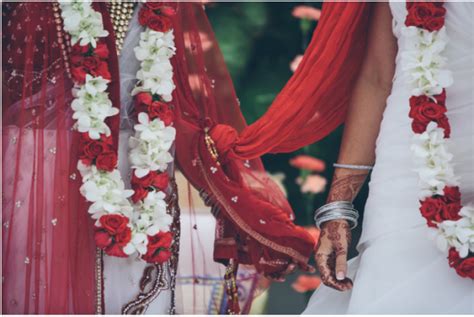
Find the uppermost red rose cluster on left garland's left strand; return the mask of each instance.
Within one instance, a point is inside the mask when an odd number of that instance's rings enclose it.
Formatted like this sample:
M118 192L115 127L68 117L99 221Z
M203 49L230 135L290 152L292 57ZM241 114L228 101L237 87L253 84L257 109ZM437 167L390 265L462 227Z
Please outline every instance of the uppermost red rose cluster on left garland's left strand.
M92 45L75 44L71 52L71 75L74 81L84 84L87 74L110 80L111 75L106 61L108 57L109 49L103 42L98 42L95 48Z

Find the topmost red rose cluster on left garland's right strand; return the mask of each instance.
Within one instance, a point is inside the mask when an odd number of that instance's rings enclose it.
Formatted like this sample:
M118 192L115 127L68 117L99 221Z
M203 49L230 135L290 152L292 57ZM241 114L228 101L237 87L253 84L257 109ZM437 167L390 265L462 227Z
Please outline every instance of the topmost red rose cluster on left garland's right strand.
M176 11L161 2L147 2L138 13L138 22L157 32L171 29L171 18Z

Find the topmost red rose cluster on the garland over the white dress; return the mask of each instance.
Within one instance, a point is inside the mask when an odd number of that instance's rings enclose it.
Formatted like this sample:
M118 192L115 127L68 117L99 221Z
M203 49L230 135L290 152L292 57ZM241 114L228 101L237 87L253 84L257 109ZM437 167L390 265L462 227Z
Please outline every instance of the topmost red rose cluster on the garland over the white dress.
M433 32L444 25L446 9L442 2L407 2L407 10L406 26L416 26Z

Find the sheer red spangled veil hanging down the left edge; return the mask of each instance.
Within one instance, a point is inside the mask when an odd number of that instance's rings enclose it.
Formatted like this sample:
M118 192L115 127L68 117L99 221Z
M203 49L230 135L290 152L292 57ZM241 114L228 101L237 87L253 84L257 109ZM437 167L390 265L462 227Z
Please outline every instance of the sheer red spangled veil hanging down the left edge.
M54 5L2 4L2 308L8 314L95 312L93 222L79 193L73 84ZM95 8L107 14L105 4ZM112 33L110 20L104 24ZM118 79L113 36L107 45ZM118 107L118 81L109 93ZM117 140L118 116L109 126Z

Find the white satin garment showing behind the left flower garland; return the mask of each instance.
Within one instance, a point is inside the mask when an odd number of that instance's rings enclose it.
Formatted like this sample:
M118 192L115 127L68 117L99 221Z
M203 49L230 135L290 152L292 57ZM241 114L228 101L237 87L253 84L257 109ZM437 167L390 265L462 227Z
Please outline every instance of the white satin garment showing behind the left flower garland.
M139 4L140 6L141 4ZM130 188L131 170L128 162L128 139L133 134L133 121L129 117L133 110L133 98L130 95L136 83L136 73L140 67L135 58L134 48L138 45L142 26L138 23L139 7L135 9L129 29L123 43L119 58L120 68L120 137L119 137L119 169L123 180ZM171 166L170 166L171 170ZM139 283L143 271L148 264L135 257L117 258L104 256L104 298L105 313L120 314L127 303L134 300L140 292ZM170 274L166 277L168 280ZM162 291L151 302L146 314L168 314L171 303L171 292Z

